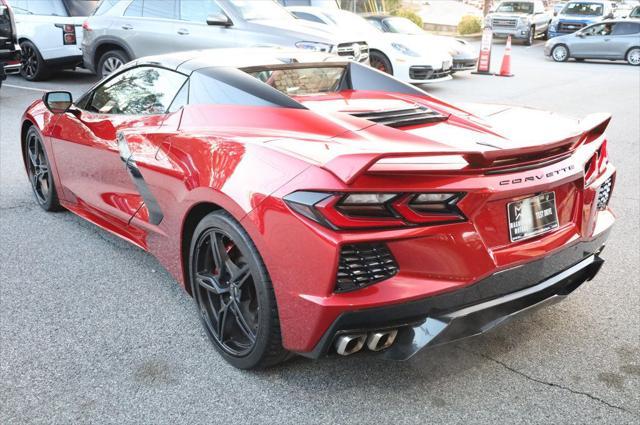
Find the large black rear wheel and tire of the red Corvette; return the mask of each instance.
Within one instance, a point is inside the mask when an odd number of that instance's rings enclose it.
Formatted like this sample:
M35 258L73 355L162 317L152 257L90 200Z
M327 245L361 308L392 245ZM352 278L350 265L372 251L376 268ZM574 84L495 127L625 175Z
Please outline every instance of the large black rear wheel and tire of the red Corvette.
M205 332L232 366L261 369L287 358L267 269L227 212L208 214L194 230L189 280Z

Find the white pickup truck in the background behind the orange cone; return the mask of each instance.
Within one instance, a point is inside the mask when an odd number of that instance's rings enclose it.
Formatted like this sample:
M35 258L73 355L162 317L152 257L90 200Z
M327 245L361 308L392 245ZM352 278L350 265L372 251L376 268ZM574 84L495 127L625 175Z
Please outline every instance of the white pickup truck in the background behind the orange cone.
M484 24L495 37L511 36L531 46L539 36L546 36L552 16L542 1L503 1L485 17Z

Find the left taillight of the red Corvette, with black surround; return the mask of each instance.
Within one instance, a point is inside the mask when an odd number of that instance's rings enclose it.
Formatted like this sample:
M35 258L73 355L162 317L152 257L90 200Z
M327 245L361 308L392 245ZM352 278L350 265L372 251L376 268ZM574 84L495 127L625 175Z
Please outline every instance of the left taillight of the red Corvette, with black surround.
M284 200L297 212L332 229L396 228L465 220L463 193L327 193L299 191Z

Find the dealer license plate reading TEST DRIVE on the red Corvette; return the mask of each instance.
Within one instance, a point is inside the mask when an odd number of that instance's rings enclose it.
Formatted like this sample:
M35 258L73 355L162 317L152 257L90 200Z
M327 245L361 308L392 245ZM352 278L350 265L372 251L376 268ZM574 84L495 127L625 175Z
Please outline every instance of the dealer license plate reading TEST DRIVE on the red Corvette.
M507 205L511 242L529 239L558 227L556 194L542 193Z

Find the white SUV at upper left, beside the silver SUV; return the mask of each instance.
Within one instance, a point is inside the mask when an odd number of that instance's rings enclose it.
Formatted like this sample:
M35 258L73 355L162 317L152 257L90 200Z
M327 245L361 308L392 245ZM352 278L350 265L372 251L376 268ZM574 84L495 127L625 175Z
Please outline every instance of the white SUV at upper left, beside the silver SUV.
M20 74L30 81L82 65L82 22L98 0L10 0L22 48Z

